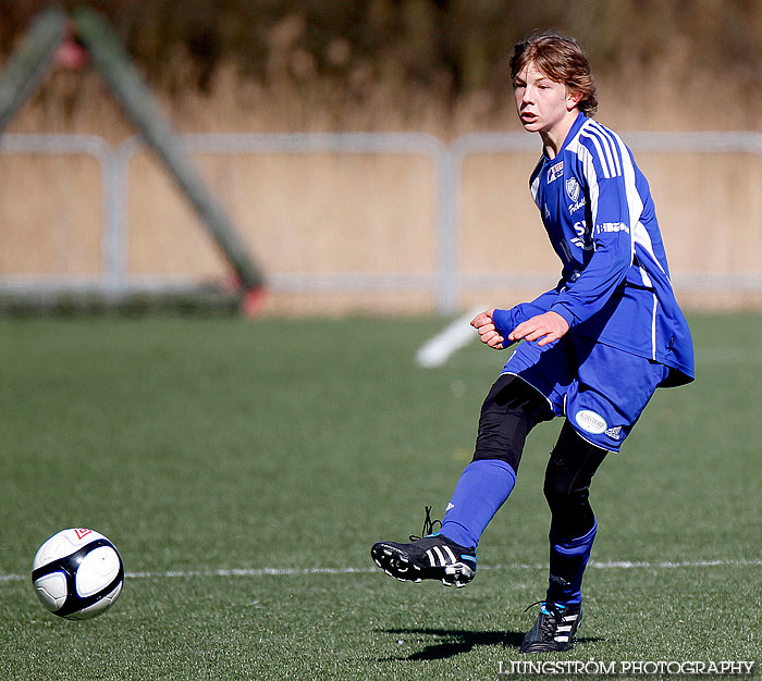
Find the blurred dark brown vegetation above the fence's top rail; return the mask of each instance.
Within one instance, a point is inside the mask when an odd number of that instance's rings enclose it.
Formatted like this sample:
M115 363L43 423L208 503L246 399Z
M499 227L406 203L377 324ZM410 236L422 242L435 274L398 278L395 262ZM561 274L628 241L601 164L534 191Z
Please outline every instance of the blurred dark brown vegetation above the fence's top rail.
M0 0L0 53L46 0ZM749 0L65 0L103 13L182 128L513 125L513 44L586 47L601 117L630 128L762 127L762 3ZM98 126L102 94L58 74L30 126ZM29 127L29 125L24 126ZM96 132L96 131L91 131Z

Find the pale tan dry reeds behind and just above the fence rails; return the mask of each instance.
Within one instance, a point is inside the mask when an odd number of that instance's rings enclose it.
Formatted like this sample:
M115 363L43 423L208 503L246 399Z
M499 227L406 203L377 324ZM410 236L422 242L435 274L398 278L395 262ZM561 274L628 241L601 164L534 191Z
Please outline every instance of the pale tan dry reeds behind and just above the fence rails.
M635 69L635 66L634 66ZM648 87L643 73L600 84L599 119L627 129L762 129L762 107L730 81L701 74L676 85L668 73ZM754 95L754 97L758 97ZM333 102L333 106L331 103ZM664 102L667 102L666 104ZM729 102L729 103L728 103ZM668 106L667 106L668 104ZM465 132L518 129L509 101L484 92L448 107L423 92L403 97L378 86L362 100L339 91L295 98L287 88L241 81L218 70L210 94L185 92L161 107L181 132L422 131L450 141ZM9 132L88 133L119 144L134 129L93 73L54 73ZM539 151L539 149L538 149ZM759 158L739 154L639 154L656 199L673 273L760 273L762 206ZM464 273L548 275L550 252L527 177L536 154L469 159L464 169L458 265ZM416 157L278 154L196 159L269 273L416 273L435 268L434 178ZM0 157L0 275L93 274L100 271L100 189L83 159ZM149 154L130 169L131 274L226 276L201 225ZM463 302L508 305L539 293L465 290ZM689 307L760 305L757 294L680 292ZM427 290L279 294L268 309L298 312L426 311Z

